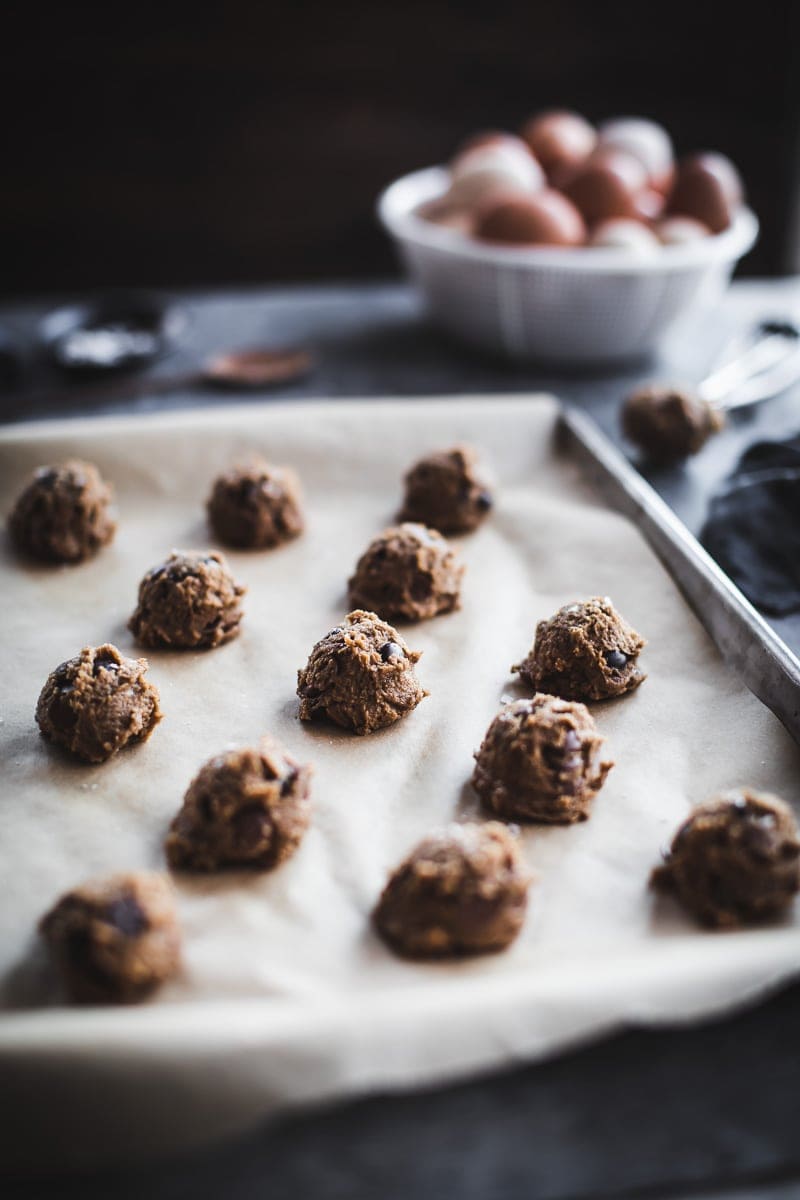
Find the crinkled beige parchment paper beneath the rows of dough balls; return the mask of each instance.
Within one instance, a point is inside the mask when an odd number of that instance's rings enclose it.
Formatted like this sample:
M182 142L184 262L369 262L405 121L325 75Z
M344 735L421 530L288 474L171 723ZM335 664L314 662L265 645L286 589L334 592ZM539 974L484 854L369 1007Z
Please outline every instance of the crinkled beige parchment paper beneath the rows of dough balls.
M557 458L547 397L227 407L0 433L7 511L30 469L80 455L114 481L119 534L79 568L22 565L2 544L0 1073L2 1160L109 1160L233 1134L277 1106L434 1084L529 1060L625 1022L722 1012L798 971L796 913L766 929L698 931L646 889L692 803L748 784L796 804L796 746L730 674L637 530ZM354 738L296 716L295 679L347 611L345 581L397 508L420 454L457 439L492 466L499 503L458 539L463 608L403 626L431 691L393 727ZM241 636L210 653L150 652L164 720L102 767L38 737L48 672L86 643L137 653L126 629L143 572L213 542L212 476L253 451L294 464L308 530L229 552L248 587ZM409 965L371 932L387 871L433 826L476 811L471 755L536 620L610 595L650 644L646 683L593 706L616 760L591 820L527 828L536 872L510 952ZM140 653L140 652L139 652ZM167 826L197 768L270 731L315 767L312 829L267 876L178 878L185 970L150 1003L58 1004L32 935L64 889L163 866ZM43 1151L47 1147L47 1151Z

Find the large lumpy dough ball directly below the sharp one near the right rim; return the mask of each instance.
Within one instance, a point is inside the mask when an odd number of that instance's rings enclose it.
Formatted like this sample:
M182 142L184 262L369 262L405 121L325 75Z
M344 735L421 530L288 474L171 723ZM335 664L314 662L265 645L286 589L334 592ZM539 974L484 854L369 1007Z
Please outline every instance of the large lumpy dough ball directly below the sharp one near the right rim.
M517 700L498 713L475 755L473 786L507 821L585 821L612 762L583 704L557 696Z

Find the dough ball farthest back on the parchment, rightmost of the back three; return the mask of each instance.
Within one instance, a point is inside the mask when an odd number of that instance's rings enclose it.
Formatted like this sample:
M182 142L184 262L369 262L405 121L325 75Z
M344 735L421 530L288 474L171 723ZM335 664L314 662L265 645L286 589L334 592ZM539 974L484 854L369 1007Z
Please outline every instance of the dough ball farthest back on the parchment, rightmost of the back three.
M416 521L439 533L471 533L494 504L470 446L455 446L414 463L405 475L399 521Z

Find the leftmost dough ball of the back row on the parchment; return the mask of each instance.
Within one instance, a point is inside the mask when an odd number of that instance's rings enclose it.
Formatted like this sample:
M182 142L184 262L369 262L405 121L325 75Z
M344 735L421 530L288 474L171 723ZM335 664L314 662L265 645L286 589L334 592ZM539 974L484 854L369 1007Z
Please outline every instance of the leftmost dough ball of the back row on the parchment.
M40 467L8 517L17 550L46 563L80 563L116 530L112 488L90 462Z

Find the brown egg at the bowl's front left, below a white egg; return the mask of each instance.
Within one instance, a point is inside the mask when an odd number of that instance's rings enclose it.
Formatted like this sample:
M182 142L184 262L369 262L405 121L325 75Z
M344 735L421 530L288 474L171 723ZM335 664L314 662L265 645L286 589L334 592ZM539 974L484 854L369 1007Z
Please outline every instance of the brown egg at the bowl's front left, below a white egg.
M579 246L587 240L583 217L553 188L534 196L498 193L477 214L475 235L509 246Z

